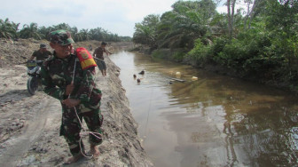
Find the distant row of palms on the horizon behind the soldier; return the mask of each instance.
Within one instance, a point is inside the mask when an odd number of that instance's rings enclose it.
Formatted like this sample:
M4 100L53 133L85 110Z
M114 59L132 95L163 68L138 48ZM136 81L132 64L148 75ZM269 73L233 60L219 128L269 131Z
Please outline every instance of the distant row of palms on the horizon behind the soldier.
M76 42L87 41L87 40L98 40L107 42L120 42L120 41L131 41L129 36L118 36L112 34L103 28L92 28L92 29L81 29L73 27L71 28L66 23L61 23L57 26L51 27L40 27L36 23L30 25L25 24L22 29L19 30L20 23L14 23L9 19L0 19L0 38L17 39L17 38L35 38L35 39L48 39L49 34L53 30L67 29L71 32L72 37Z

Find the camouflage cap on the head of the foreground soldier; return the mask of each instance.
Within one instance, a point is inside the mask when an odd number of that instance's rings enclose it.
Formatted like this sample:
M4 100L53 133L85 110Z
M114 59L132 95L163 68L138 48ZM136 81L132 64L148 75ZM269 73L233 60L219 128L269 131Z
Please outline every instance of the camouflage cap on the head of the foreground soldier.
M50 33L50 41L54 44L67 45L73 44L75 41L67 30L59 29Z

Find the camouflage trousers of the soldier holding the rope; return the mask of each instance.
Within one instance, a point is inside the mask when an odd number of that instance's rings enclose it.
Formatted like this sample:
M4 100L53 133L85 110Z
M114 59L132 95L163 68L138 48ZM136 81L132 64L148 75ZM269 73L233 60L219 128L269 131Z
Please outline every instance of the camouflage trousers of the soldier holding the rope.
M76 108L67 108L62 105L62 123L60 127L60 136L64 136L72 155L78 155L81 152L80 148L80 131L82 130L81 124L75 115L75 109L78 113L81 123L82 118L85 120L89 131L98 132L102 134L101 125L103 123L103 115L101 115L99 107L89 112L82 113L81 110ZM96 138L94 135L89 135L89 142L92 145L99 145L102 139ZM82 151L84 147L81 140Z

